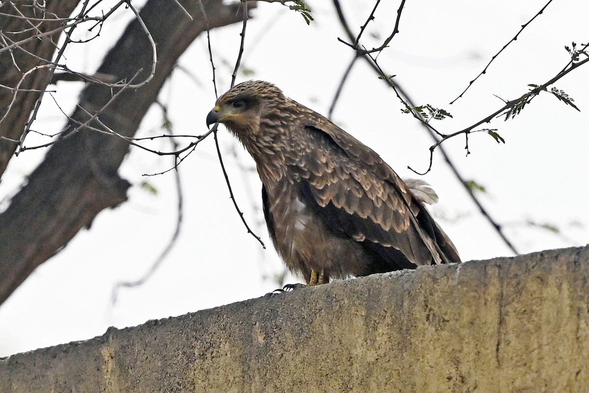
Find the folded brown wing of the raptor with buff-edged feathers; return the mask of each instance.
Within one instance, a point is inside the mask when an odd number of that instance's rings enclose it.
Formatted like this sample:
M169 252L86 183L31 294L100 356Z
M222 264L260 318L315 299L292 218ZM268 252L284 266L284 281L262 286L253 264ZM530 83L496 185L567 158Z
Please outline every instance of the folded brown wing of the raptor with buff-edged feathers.
M375 151L319 115L300 127L312 146L290 157L300 193L333 233L352 237L374 256L360 275L460 262L448 237Z

